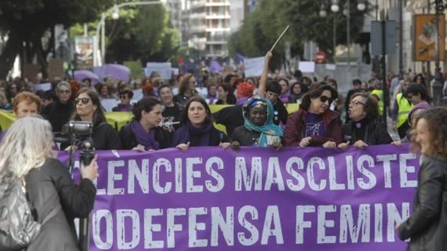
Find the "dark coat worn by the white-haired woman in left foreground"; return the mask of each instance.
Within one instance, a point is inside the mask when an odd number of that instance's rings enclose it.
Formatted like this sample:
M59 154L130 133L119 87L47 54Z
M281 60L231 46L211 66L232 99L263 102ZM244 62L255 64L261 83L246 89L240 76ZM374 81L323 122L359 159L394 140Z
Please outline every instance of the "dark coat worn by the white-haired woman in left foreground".
M73 219L88 217L96 195L93 183L84 178L76 185L67 167L52 158L40 168L29 171L25 181L30 208L37 222L42 223L53 208L62 206L62 210L42 226L37 239L26 250L79 250Z

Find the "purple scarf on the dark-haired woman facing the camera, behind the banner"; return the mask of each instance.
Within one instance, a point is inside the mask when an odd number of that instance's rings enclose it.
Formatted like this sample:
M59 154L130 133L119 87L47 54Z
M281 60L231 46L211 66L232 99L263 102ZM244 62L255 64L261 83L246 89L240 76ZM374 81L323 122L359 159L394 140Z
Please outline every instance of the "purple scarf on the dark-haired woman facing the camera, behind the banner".
M213 129L213 123L204 124L202 127L196 128L191 125L191 122L188 120L186 124L177 129L179 132L176 134L179 136L174 139L174 145L176 146L181 143L186 144L189 142L189 135L192 134L200 136L200 147L209 146L211 129Z

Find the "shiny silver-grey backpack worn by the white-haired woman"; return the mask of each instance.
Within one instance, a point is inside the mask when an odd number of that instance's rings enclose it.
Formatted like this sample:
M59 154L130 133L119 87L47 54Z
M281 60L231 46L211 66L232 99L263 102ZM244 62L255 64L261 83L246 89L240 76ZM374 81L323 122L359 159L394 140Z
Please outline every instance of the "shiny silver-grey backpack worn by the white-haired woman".
M61 209L53 208L42 224L34 220L22 180L0 183L0 250L20 250L39 235L45 224Z

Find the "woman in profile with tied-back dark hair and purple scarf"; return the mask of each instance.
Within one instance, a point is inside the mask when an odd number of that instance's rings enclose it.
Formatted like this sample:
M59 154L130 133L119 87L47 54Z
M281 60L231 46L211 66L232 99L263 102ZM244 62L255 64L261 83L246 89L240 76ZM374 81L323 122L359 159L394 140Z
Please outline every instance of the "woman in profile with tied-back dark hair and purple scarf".
M150 151L170 147L169 135L158 126L163 120L163 106L158 99L143 98L132 112L134 119L119 131L123 149Z

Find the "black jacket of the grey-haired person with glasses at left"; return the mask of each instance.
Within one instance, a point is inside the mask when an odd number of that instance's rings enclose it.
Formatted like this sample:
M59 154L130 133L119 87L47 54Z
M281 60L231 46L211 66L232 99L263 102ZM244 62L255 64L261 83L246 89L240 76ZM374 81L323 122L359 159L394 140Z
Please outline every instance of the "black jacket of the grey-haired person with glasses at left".
M45 106L41 115L50 122L53 132L61 132L62 126L70 120L74 111L75 104L73 102L62 104L56 101Z

